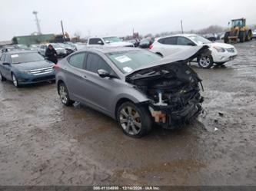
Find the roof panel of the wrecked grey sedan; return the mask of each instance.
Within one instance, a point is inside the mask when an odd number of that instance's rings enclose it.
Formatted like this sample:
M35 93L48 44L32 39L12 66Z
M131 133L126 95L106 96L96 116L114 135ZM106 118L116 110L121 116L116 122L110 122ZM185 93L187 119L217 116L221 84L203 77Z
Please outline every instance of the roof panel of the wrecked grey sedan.
M105 46L93 46L83 48L80 51L94 51L94 52L101 52L103 54L111 53L111 52L118 52L118 51L141 51L141 48L131 48L131 47L105 47Z

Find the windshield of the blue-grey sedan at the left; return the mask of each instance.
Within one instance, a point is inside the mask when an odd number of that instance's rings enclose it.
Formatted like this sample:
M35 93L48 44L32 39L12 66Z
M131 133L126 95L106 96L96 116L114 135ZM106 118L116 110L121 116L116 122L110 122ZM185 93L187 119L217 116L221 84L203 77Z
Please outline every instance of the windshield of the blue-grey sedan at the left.
M12 64L45 60L45 58L43 58L37 52L26 52L26 53L12 54L11 58L12 58Z

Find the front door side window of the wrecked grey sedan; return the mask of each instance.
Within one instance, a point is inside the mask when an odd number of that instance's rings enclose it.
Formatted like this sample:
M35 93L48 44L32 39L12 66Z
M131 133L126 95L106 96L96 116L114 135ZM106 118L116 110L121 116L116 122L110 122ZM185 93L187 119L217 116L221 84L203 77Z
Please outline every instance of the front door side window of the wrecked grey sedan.
M109 73L112 72L111 67L100 56L98 56L97 54L89 53L86 61L86 70L98 73L99 69L104 69Z

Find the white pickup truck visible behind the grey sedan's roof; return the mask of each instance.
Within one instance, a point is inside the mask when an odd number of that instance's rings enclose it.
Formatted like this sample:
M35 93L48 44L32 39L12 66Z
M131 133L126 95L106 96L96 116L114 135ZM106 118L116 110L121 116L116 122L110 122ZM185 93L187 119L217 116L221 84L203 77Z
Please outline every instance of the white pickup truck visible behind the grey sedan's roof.
M88 39L88 46L103 45L111 47L135 47L134 44L127 41L121 41L120 38L115 36L109 37L93 37Z

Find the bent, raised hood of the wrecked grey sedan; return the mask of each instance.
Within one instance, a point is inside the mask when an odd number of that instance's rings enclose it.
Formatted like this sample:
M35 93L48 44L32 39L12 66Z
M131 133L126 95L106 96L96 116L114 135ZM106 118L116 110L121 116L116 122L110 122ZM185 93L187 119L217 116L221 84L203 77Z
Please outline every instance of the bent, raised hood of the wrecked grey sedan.
M177 68L178 65L182 65L182 68L188 68L188 66L185 65L188 61L192 61L194 58L198 58L199 55L208 54L211 54L211 51L207 45L194 46L185 51L179 51L175 54L171 54L170 56L161 59L161 61L158 61L158 63L151 64L151 67L138 68L135 71L131 71L125 76L125 81L130 82L131 84L137 84L136 82L141 80L145 81L147 78L152 79L154 77L161 77L165 75L165 72L173 72L173 69ZM171 65L174 65L172 69ZM192 69L188 70L189 72L195 74ZM183 71L185 72L185 69Z

